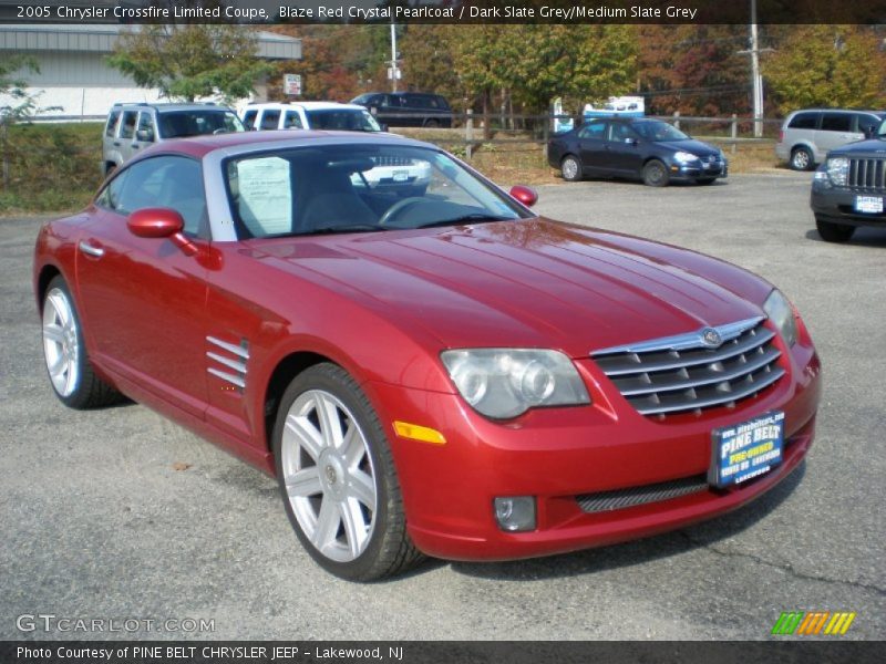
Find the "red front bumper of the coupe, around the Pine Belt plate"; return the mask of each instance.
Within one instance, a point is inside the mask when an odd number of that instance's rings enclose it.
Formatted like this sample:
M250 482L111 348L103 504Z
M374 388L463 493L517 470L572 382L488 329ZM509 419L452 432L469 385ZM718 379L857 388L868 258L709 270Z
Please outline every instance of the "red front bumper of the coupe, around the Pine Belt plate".
M784 479L812 445L820 363L811 343L787 354L789 373L730 409L664 422L637 413L590 360L576 361L590 406L529 411L494 423L454 394L369 383L385 423L406 510L423 552L452 560L508 560L575 551L647 537L735 509ZM610 511L586 512L578 497L698 477L708 471L711 432L762 413L785 413L782 464L725 491L689 495ZM401 419L436 428L445 445L399 438ZM537 529L504 532L493 501L535 496Z

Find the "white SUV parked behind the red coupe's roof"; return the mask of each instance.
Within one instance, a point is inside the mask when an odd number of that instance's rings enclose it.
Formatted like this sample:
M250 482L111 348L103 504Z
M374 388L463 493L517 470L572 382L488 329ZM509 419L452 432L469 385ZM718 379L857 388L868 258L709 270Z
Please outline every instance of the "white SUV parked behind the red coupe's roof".
M383 131L363 106L337 102L249 104L243 113L243 124L247 129Z

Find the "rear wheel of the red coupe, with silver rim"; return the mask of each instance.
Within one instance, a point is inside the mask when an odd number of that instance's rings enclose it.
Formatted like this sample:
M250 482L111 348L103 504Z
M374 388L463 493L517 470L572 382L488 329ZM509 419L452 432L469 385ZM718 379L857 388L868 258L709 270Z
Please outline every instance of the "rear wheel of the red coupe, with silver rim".
M124 396L92 369L74 299L61 276L43 297L43 359L55 396L68 407L100 408Z

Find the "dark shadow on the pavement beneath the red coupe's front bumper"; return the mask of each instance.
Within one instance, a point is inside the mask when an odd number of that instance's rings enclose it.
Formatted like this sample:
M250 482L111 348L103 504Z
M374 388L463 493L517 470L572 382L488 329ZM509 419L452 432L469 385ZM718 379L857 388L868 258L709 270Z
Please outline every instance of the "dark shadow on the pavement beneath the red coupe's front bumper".
M776 509L794 491L805 474L806 464L803 461L777 486L733 512L642 540L529 560L450 563L441 561L440 564L450 564L454 572L468 577L507 581L575 577L642 564L735 537ZM425 566L422 568L426 569Z

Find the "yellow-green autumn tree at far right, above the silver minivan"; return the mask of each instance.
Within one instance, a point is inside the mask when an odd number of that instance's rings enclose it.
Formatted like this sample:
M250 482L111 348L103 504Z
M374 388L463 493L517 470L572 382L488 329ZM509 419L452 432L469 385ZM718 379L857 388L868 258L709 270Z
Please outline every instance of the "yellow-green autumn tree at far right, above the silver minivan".
M763 74L782 113L886 104L886 53L862 25L797 27L764 61Z

